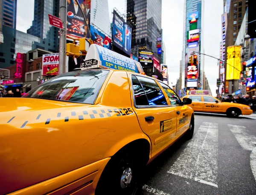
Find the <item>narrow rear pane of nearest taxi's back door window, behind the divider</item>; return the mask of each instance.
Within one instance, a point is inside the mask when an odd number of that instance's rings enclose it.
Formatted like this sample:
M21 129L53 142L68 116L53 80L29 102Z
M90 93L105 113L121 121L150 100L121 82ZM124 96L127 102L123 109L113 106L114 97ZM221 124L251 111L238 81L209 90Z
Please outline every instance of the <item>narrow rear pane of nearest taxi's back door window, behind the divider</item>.
M138 79L135 76L131 76L131 81L134 90L135 104L137 106L148 105L148 99Z

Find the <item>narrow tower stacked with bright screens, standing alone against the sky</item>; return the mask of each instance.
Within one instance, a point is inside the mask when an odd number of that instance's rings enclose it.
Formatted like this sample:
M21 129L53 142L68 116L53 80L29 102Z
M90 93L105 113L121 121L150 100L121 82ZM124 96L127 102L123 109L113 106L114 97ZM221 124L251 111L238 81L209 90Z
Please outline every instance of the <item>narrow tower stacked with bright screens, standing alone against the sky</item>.
M185 0L181 87L197 89L204 83L204 0ZM195 55L192 55L195 51ZM198 53L196 53L198 52ZM194 60L192 63L189 59Z

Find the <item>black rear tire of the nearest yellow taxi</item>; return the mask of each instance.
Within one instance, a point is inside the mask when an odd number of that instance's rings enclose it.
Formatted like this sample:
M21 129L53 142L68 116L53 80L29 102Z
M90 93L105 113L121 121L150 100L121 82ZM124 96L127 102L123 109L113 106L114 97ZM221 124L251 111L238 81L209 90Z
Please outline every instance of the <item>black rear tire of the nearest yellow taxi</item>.
M143 163L144 162L144 163ZM96 195L137 195L140 193L142 185L141 178L145 168L145 161L142 154L131 150L130 147L116 153L106 165L97 184ZM130 168L130 170L128 170ZM124 173L128 170L128 175L132 175L130 184L125 187ZM126 181L129 181L129 177ZM121 184L122 182L122 184Z

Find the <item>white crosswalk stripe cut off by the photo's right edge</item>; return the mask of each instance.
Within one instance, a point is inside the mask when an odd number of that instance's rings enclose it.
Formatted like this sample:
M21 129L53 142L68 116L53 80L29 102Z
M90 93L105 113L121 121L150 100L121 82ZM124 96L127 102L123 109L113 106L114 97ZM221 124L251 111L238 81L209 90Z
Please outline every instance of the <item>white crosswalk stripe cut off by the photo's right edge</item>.
M251 151L250 167L256 181L256 137L247 133L246 127L228 124L230 131L244 150Z

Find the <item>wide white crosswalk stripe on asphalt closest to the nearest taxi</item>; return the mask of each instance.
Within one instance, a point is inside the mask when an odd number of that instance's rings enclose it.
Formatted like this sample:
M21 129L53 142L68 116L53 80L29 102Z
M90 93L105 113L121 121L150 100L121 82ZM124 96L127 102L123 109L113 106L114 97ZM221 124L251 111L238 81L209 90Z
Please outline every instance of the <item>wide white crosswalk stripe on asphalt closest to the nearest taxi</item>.
M218 187L217 156L218 123L203 122L168 173Z

